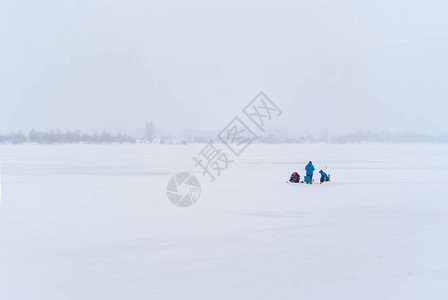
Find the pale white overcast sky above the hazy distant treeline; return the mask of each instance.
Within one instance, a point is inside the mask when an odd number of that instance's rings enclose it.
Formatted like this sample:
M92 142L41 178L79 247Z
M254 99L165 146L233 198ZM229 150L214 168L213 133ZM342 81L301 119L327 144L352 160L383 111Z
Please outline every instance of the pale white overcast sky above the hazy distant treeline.
M0 132L448 132L446 1L0 0Z

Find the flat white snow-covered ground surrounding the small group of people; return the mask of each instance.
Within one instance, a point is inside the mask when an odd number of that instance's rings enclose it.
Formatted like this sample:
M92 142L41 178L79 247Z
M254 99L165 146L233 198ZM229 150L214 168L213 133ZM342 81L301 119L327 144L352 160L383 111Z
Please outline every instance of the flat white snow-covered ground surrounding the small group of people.
M447 299L447 145L257 144L213 184L203 146L0 145L0 299Z

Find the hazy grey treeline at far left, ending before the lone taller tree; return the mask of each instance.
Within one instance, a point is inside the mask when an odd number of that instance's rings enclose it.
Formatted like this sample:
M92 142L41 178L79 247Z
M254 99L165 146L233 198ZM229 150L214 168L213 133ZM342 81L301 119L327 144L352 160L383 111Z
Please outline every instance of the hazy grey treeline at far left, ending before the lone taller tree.
M50 131L37 131L32 129L28 134L21 131L1 134L0 143L39 143L39 144L62 144L62 143L86 143L86 144L105 144L105 143L135 143L136 139L123 134L110 134L107 132L101 132L94 134L82 133L79 130L67 130L65 132L61 130Z

